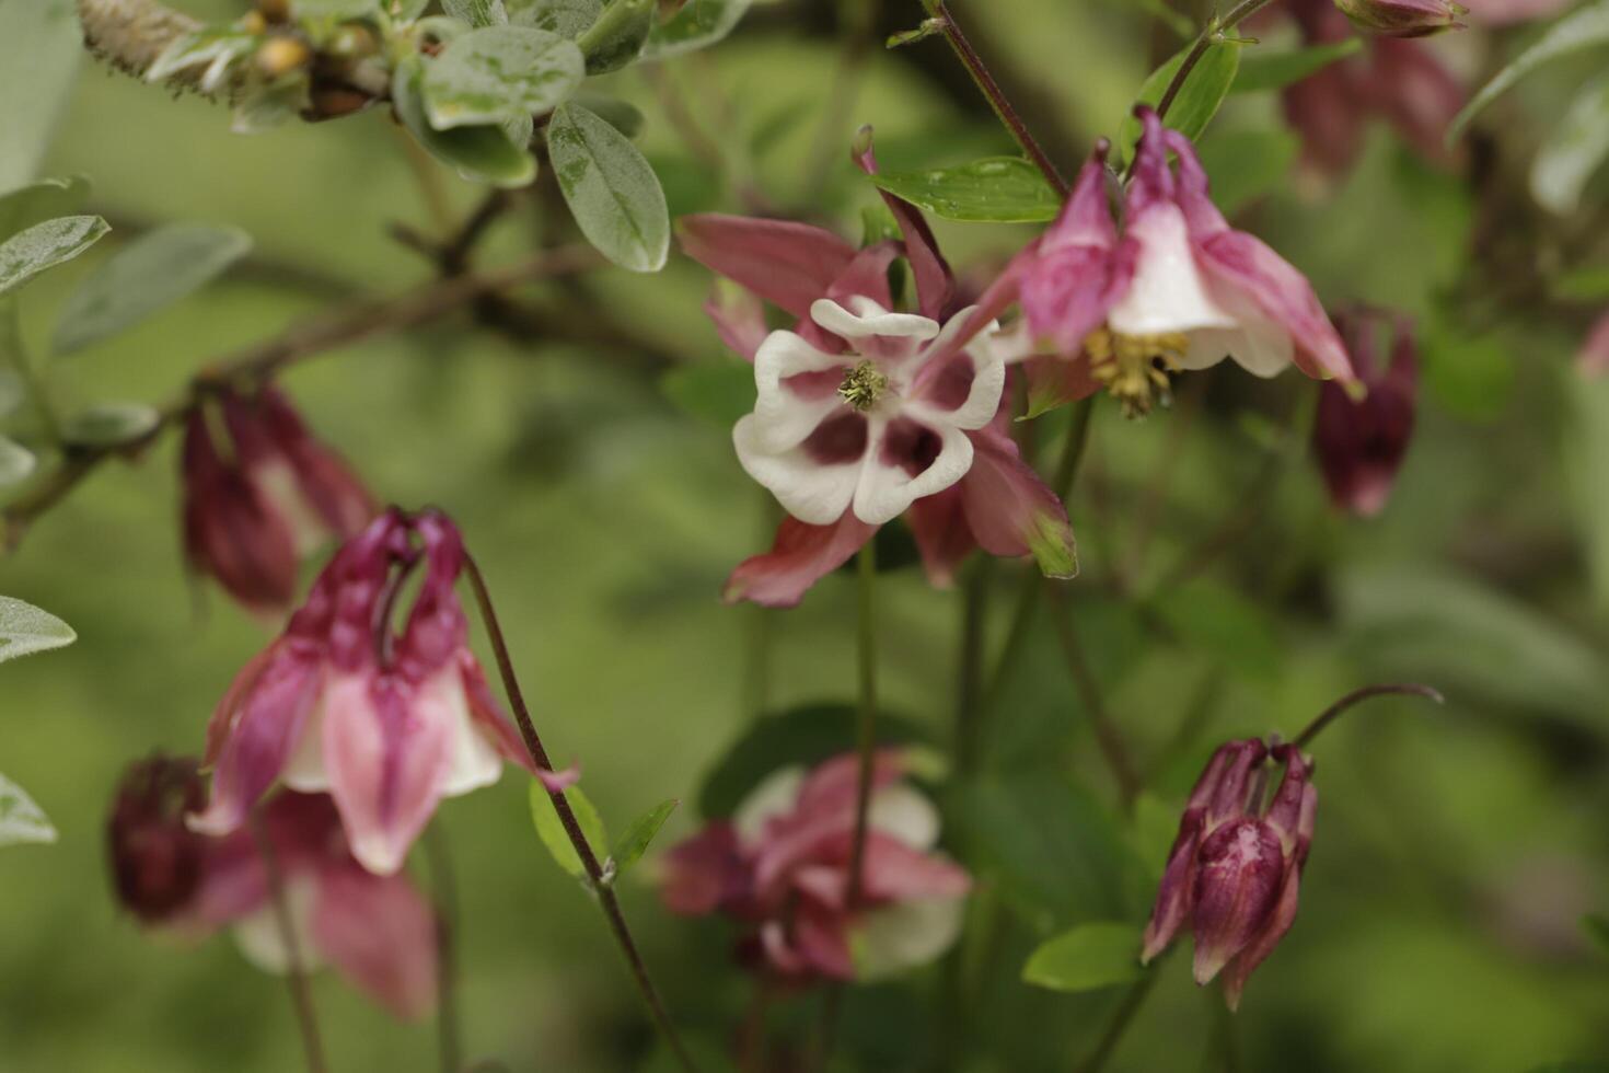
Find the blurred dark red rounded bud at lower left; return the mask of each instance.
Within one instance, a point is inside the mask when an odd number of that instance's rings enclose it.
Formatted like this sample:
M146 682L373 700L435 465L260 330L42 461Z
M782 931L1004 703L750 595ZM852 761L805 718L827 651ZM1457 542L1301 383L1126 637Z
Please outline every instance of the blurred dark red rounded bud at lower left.
M201 883L206 838L185 814L206 801L193 758L153 756L129 767L106 841L117 901L146 923L183 911Z

